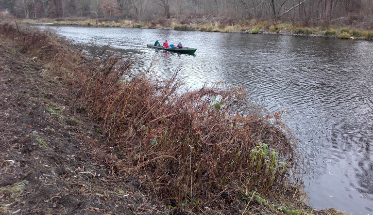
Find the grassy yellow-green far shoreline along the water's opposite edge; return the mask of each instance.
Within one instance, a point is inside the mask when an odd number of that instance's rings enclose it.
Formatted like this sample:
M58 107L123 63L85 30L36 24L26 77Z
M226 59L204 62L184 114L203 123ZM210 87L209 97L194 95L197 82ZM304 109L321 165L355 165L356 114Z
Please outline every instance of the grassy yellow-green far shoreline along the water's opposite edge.
M113 28L143 28L160 29L174 31L207 31L221 33L249 33L266 34L278 36L298 36L298 37L322 37L333 39L353 39L353 40L373 40L373 30L356 29L353 26L330 25L328 27L299 27L291 23L285 23L277 20L257 21L255 19L246 20L241 24L223 25L220 21L208 22L209 19L191 20L189 24L180 24L178 19L170 19L168 23L161 25L155 22L135 22L132 20L111 21L108 18L102 19L79 19L76 18L57 18L57 19L20 19L17 22L30 24L53 24L53 25L72 25L85 27L113 27Z

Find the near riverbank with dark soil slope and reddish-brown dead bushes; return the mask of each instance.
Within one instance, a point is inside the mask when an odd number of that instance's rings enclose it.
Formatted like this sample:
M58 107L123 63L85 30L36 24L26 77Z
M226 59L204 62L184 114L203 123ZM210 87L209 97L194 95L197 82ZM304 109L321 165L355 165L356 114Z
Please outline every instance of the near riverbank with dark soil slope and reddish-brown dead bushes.
M337 213L307 206L281 113L243 89L180 93L52 32L0 29L1 212Z

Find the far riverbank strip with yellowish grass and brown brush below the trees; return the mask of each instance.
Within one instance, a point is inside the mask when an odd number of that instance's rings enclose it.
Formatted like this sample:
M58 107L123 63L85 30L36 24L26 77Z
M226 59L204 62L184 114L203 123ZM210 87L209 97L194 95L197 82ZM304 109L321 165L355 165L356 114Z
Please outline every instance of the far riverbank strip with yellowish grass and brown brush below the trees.
M280 20L235 20L223 18L171 18L155 19L150 22L121 20L116 18L57 18L24 19L25 23L53 23L55 25L81 25L95 27L132 27L149 29L172 29L176 31L238 32L251 34L275 34L295 36L317 36L339 39L373 40L373 19L354 20L341 17L329 23L310 24L306 22Z

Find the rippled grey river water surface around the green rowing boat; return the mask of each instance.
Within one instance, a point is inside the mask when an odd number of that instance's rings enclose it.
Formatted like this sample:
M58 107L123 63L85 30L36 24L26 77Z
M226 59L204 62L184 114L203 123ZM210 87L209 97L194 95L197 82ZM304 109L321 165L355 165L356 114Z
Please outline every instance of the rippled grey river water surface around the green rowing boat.
M373 42L314 37L131 28L51 27L83 51L119 54L189 86L225 80L244 85L254 102L288 110L284 122L312 167L305 189L316 209L373 214ZM195 55L146 47L181 41ZM169 43L169 44L170 44Z

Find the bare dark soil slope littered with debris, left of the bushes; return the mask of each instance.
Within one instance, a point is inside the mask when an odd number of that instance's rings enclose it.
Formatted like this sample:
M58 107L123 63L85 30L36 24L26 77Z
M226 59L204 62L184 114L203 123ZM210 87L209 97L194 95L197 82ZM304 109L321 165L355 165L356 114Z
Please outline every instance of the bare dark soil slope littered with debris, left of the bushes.
M140 181L95 160L105 140L62 78L0 39L0 214L156 214Z

